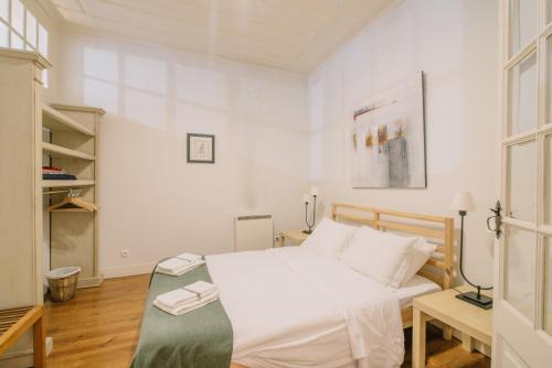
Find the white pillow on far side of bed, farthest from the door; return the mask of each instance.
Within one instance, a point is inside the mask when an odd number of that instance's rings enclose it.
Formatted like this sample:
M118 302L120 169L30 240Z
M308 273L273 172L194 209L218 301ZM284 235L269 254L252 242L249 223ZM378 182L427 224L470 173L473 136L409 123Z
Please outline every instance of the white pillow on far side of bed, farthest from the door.
M312 234L305 239L301 247L326 257L339 259L354 231L357 231L354 226L339 224L325 217Z

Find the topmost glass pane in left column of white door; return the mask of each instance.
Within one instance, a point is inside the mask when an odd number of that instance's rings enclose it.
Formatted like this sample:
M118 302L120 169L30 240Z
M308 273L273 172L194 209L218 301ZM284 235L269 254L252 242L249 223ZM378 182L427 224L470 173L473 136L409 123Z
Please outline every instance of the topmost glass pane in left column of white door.
M510 56L537 36L539 0L510 0Z

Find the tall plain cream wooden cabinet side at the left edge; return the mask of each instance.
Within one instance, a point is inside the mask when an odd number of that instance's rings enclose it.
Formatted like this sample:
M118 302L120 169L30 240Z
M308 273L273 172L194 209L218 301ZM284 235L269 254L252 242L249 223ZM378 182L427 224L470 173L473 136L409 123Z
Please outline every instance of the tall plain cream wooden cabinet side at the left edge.
M0 47L0 311L44 299L40 142L42 71L50 67L35 52ZM30 348L22 342L12 353Z

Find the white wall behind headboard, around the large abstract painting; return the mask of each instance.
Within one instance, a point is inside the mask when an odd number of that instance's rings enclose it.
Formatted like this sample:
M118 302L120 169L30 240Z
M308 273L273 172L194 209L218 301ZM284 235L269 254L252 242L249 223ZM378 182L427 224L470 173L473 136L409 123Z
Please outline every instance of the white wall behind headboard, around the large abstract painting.
M456 191L474 194L465 271L492 280L487 208L497 199L498 4L480 0L397 1L309 75L311 178L320 197L455 216ZM425 74L427 188L352 190L352 110L413 73ZM456 217L456 226L459 218Z

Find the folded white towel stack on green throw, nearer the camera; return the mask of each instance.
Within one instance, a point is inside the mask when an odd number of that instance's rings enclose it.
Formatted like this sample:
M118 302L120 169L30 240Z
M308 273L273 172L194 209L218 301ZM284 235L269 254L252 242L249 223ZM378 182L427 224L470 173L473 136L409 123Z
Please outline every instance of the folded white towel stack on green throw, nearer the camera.
M204 281L197 281L192 284L158 295L153 305L158 309L180 315L212 303L219 299L219 290L215 285Z

